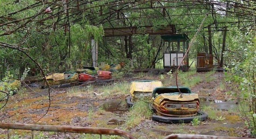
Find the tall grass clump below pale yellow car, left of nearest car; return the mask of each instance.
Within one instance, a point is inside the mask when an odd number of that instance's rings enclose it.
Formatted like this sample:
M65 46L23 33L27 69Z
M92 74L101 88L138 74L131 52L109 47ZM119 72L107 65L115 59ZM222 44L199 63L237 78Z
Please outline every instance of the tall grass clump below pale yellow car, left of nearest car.
M129 116L126 120L126 127L132 128L138 125L142 120L151 117L152 111L149 109L148 103L138 100L133 107L130 108Z

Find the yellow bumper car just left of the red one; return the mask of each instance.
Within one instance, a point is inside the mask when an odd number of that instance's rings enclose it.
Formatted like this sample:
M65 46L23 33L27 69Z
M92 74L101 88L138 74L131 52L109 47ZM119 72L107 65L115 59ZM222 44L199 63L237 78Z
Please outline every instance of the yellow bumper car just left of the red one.
M45 76L45 79L48 81L49 86L51 87L65 87L72 84L78 83L78 73L75 72L64 72L64 73L50 73ZM42 86L45 88L46 83Z

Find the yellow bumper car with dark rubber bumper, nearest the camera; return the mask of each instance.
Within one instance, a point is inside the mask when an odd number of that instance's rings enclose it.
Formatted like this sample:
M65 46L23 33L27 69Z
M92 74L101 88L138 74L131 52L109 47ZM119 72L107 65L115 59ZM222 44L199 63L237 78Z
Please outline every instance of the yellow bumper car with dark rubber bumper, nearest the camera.
M192 93L188 87L157 87L152 92L151 107L155 114L152 120L164 123L187 123L198 118L204 121L205 112L198 111L198 94Z

